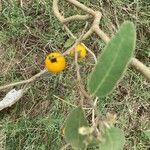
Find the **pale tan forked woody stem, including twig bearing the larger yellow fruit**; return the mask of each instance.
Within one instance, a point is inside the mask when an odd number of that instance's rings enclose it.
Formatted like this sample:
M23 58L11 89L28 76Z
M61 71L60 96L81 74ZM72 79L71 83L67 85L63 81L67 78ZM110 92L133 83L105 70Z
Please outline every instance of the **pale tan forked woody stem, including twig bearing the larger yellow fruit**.
M68 18L64 18L64 16L62 16L60 14L60 12L59 12L59 8L58 8L58 2L59 2L59 0L53 0L53 11L54 11L54 14L55 14L55 16L58 18L58 20L62 24L65 25L65 23L69 23L70 21L74 21L74 20L87 20L87 19L90 19L91 16L89 14L91 14L94 17L93 25L91 26L91 28L89 29L89 31L87 31L83 35L82 40L87 39L93 32L95 32L105 43L108 43L110 41L109 36L106 33L104 33L100 29L100 27L99 27L100 19L101 19L101 16L102 16L101 12L94 11L94 10L86 7L85 5L81 4L77 0L66 0L66 1L72 3L73 5L79 7L83 11L87 12L88 15L75 15L75 16L71 16L71 17L68 17ZM69 52L71 51L71 49L73 49L79 42L80 41L77 40L75 42L75 44L64 53L64 55L69 54ZM139 72L141 72L148 80L150 80L150 69L147 66L145 66L142 62L140 62L136 58L132 58L130 64L136 70L138 70ZM45 74L46 72L47 72L47 70L44 69L41 72L39 72L38 74L36 74L35 76L31 77L30 79L1 86L0 90L6 89L6 88L9 88L9 87L12 87L12 86L17 86L17 85L25 84L25 83L31 83L31 82L35 81L38 77L40 77L43 74Z

